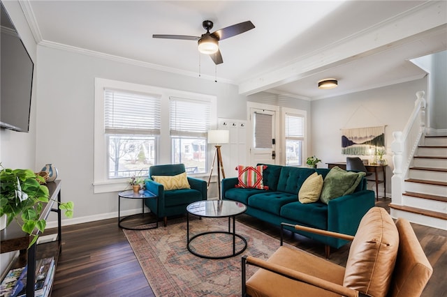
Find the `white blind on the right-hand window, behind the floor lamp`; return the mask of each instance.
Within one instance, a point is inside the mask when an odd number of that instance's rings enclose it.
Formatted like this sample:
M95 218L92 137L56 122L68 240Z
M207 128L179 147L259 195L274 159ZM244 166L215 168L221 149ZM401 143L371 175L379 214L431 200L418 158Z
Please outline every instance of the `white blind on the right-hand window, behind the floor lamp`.
M170 98L170 135L207 137L211 123L211 102Z

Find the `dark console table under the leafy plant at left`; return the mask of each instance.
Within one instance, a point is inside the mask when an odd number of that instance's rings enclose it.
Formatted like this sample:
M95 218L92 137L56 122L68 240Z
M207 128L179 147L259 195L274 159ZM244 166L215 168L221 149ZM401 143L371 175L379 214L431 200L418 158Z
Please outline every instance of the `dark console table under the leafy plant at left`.
M45 257L54 257L54 270L56 270L57 260L59 258L59 253L61 252L61 210L59 205L55 201L61 202L61 181L52 181L46 184L48 191L50 192L50 201L45 205L43 211L41 212L41 217L39 219L45 219L50 215L50 212L54 211L57 213L57 241L52 241L49 243L41 243L37 245L34 243L28 249L29 243L31 243L31 236L24 231L15 222L11 222L6 229L0 231L1 237L1 253L3 252L13 252L15 250L20 250L20 255L15 261L11 268L20 268L28 265L27 270L27 297L34 297L34 278L36 271L36 257L38 259ZM53 208L54 206L54 208ZM33 234L38 235L38 229L34 229ZM47 235L47 234L45 234ZM54 276L53 276L54 277Z

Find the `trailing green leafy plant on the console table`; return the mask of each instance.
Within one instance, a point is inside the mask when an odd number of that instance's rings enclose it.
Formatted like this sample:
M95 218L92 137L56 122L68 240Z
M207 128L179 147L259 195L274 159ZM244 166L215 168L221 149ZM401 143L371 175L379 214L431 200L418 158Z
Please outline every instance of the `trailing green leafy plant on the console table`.
M29 246L38 238L33 234L34 229L43 232L46 227L46 221L40 217L50 194L41 183L45 183L45 179L30 169L5 169L1 166L0 217L6 215L6 227L15 220L24 232L34 236ZM72 201L59 204L59 208L64 210L66 217L73 217Z

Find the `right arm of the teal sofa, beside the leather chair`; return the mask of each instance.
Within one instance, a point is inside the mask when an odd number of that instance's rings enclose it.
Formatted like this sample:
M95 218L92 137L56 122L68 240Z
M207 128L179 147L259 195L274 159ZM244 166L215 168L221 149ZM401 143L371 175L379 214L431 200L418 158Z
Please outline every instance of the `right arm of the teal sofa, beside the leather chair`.
M332 199L328 203L328 231L356 235L358 224L375 205L372 190L362 190Z

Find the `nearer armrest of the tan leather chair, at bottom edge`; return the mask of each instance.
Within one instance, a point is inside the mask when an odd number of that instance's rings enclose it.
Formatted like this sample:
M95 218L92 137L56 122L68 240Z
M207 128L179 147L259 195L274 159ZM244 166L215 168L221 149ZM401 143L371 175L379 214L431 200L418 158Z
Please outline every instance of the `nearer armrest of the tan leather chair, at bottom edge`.
M339 294L342 296L350 296L350 297L366 296L365 294L362 294L359 291L343 287L340 284L328 282L327 280L322 280L321 278L314 277L312 275L307 275L306 273L302 273L300 271L294 271L293 269L286 268L284 266L280 266L272 262L268 262L263 259L258 259L251 256L242 257L242 296L247 295L245 287L247 264L263 268L272 273L277 273L284 277L288 277L291 280L296 280L297 282L304 282L305 284L310 284L311 286L318 287L326 291L331 291L335 294Z

